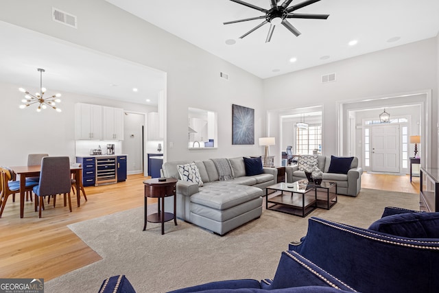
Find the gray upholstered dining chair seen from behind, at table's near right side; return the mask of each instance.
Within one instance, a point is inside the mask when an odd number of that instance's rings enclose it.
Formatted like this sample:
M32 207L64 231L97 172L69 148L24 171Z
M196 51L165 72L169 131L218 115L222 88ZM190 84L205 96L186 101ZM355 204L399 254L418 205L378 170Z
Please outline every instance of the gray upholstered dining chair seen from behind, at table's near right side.
M69 199L69 210L71 211L71 177L70 162L68 156L45 156L41 160L41 172L38 185L34 186L34 194L38 196L38 218L41 218L44 196L54 197L54 207L56 195L64 194L64 207L67 198ZM36 204L37 198L35 198Z

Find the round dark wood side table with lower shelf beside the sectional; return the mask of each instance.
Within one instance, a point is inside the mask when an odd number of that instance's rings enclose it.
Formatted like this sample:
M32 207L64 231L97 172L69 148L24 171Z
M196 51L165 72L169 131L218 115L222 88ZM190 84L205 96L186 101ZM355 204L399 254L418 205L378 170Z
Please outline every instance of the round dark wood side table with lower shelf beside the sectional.
M145 185L145 224L143 231L146 230L146 223L162 223L162 235L165 234L165 222L174 219L174 224L177 226L176 216L176 185L177 179L165 178L164 181L159 181L158 178L152 178L143 181ZM174 196L174 213L165 213L165 198ZM157 213L147 214L147 198L158 198Z

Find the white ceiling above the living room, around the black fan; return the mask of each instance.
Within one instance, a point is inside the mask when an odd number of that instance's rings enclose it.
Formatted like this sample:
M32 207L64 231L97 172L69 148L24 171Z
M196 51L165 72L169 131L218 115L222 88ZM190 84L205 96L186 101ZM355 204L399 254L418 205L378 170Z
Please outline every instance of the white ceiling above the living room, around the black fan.
M263 12L230 0L106 0L260 78L298 71L372 51L431 38L439 32L438 0L321 0L295 10L330 14L322 19L288 19L300 36L270 23L239 38L264 19L224 25ZM242 0L266 10L271 0ZM284 0L278 1L281 5ZM289 6L305 0L294 0ZM239 2L239 1L238 1ZM350 46L351 40L357 45ZM233 44L233 45L228 45ZM296 58L295 62L290 62Z

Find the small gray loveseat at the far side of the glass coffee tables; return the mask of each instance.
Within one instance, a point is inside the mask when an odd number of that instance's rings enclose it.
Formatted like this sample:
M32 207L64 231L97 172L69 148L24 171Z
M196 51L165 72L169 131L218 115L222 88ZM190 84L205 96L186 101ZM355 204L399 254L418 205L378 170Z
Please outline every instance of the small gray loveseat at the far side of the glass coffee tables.
M357 196L361 189L361 174L363 174L363 169L358 167L358 158L353 157L351 167L348 169L347 174L329 173L330 165L331 156L318 155L317 167L323 172L323 181L337 183L337 194ZM298 169L298 165L285 167L285 174L287 176L287 183L307 178L305 172Z

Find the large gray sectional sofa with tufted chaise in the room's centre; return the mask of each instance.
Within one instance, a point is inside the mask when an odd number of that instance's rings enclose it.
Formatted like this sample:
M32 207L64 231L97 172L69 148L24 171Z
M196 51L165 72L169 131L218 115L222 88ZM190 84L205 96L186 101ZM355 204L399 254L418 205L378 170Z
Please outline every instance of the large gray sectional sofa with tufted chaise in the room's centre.
M224 235L259 218L262 213L263 189L276 183L277 169L263 168L262 174L246 176L243 157L228 159L233 170L232 180L219 180L213 160L195 161L203 186L180 179L178 165L193 161L174 161L163 164L162 174L177 178L177 217ZM166 198L165 209L172 211L174 201Z

